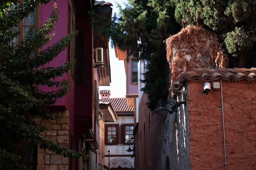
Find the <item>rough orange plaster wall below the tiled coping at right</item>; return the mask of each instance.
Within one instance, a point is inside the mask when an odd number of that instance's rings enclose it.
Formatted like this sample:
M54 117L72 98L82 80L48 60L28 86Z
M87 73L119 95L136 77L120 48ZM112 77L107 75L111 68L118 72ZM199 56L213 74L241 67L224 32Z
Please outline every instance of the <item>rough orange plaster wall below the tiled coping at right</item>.
M227 170L256 169L256 85L253 83L222 80ZM211 89L207 95L203 86L204 82L189 82L191 170L225 170L221 90Z

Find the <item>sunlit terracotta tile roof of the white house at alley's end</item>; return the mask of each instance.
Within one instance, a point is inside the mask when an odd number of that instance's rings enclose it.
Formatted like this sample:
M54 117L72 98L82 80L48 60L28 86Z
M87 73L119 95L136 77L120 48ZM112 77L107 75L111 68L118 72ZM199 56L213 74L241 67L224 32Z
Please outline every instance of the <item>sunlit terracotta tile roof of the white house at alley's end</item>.
M99 103L110 103L116 112L134 112L134 106L128 106L125 97L99 99Z

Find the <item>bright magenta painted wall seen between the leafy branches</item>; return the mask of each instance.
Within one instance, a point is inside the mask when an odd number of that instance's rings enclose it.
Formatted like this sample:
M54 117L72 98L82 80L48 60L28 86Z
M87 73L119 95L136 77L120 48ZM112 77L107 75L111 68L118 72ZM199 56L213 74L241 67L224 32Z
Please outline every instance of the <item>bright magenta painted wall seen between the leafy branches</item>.
M52 40L47 44L47 46L51 46L52 44L56 43L58 40L61 40L61 38L65 37L67 35L67 11L68 11L68 1L67 0L61 0L57 1L58 6L58 22L55 23L55 28L52 30L52 33L54 33L54 37ZM49 2L46 5L41 5L41 13L40 13L40 22L41 25L45 23L47 19L49 19L49 16L52 13L54 2ZM74 9L74 8L72 8ZM47 48L45 46L45 48ZM42 48L45 49L45 48ZM45 66L61 66L61 64L64 64L67 62L67 49L62 51L52 62ZM68 93L61 99L58 99L56 103L53 105L56 107L56 109L67 109L70 113L70 129L74 130L74 80L71 76L71 71L67 74L64 74L63 77L58 77L58 80L66 79L68 82L70 82L70 85L68 87ZM45 91L49 90L56 90L56 88L48 88L48 87L41 87ZM53 108L54 108L53 107ZM73 115L73 116L72 116Z

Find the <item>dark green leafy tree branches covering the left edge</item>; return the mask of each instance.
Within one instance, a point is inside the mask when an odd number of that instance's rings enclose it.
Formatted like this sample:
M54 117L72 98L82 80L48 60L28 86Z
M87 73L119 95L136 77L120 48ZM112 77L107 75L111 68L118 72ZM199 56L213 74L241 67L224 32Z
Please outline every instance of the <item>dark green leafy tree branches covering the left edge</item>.
M26 169L19 164L17 155L18 141L25 140L40 145L64 157L81 157L82 152L69 150L54 141L43 137L44 127L40 127L34 118L56 119L45 108L67 93L68 82L56 80L69 71L74 63L65 63L58 67L47 67L71 42L76 32L70 33L52 46L40 51L34 57L31 53L47 45L54 34L54 23L58 20L57 5L52 14L36 33L30 29L20 44L12 42L19 32L18 23L34 11L39 3L49 0L25 0L16 7L18 0L0 2L0 169ZM39 86L56 86L55 91L45 92Z

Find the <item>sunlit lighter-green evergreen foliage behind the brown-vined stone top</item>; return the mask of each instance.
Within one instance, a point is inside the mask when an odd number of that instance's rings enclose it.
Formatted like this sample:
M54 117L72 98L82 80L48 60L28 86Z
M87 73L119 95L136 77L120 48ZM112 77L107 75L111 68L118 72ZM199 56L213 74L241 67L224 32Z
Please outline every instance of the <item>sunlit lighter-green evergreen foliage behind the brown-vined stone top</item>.
M171 1L175 6L175 19L182 26L201 23L219 36L220 42L224 44L229 54L231 68L232 66L250 68L256 65L255 1Z

